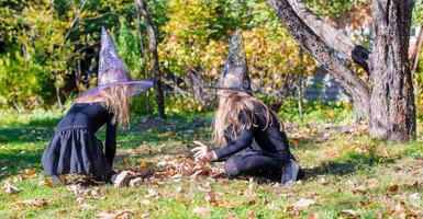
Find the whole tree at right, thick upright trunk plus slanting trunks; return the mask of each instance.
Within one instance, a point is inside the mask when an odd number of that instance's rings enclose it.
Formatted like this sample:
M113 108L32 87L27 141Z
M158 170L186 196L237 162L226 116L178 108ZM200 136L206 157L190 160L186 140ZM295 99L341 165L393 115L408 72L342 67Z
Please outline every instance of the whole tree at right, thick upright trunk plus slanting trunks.
M392 141L415 138L415 105L408 60L412 0L372 1L375 53L372 61L367 61L371 95L369 87L345 64L346 59L357 62L356 47L342 39L300 0L267 1L297 43L352 95L356 118L367 115L371 137Z

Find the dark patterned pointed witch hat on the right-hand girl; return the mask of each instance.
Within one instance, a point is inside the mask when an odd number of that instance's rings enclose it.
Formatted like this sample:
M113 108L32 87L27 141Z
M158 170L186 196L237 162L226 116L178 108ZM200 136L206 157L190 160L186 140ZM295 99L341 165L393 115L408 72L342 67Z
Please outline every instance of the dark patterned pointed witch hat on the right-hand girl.
M232 34L226 61L222 68L218 84L208 88L253 92L241 30L236 30Z

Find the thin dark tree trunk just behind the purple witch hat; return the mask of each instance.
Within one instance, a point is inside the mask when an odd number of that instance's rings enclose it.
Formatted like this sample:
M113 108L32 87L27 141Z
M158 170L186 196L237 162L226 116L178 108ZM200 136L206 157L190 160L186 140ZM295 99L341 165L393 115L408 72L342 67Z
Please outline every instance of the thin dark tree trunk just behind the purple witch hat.
M147 7L144 0L136 0L136 4L140 8L141 14L145 20L145 24L147 27L148 38L149 38L149 50L152 51L152 66L154 71L154 82L156 83L156 103L158 107L158 114L162 118L166 118L165 113L165 95L162 88L162 77L160 77L160 68L158 62L158 54L157 54L157 37L156 32L153 26L153 22L149 18Z

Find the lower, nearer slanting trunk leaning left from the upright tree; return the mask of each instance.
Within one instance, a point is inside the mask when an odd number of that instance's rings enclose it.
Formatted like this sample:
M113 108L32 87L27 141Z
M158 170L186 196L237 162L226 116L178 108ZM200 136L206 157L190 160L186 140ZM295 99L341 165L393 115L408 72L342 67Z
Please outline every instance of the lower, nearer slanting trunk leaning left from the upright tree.
M337 56L338 53L331 45L323 42L298 16L287 0L267 1L294 41L322 64L352 95L356 117L367 117L370 111L370 92L367 84L346 66L345 59Z

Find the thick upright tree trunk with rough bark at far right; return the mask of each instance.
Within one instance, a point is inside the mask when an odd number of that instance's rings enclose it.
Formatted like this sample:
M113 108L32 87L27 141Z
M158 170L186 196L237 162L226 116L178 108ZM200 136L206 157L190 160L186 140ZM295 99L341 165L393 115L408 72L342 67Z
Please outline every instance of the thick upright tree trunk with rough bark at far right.
M415 105L408 60L412 0L374 0L375 31L370 135L415 138Z

